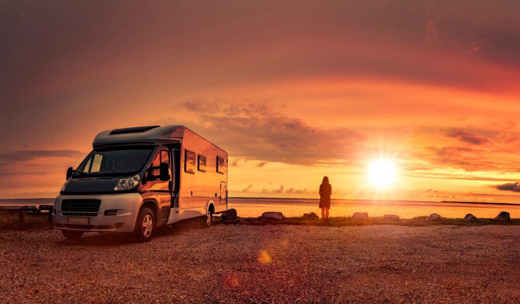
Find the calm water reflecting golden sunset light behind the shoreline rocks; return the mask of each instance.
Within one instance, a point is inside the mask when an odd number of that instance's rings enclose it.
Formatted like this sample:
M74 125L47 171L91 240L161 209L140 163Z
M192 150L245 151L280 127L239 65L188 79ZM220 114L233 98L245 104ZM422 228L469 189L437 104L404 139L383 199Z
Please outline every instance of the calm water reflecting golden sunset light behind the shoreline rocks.
M54 199L0 200L2 205L52 205ZM240 217L257 217L266 211L278 211L286 217L304 213L320 214L318 200L301 199L243 199L230 198L228 208L237 209ZM444 217L462 218L471 213L480 218L492 218L506 211L512 218L520 218L519 205L463 204L410 201L358 201L332 200L330 216L350 216L355 212L368 212L369 216L397 214L401 218L412 218L438 213Z

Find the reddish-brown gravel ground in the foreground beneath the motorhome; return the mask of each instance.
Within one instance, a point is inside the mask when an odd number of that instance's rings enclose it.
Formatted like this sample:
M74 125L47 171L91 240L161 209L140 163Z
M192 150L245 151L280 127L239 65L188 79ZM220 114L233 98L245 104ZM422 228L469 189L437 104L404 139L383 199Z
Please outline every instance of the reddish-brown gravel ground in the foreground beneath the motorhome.
M0 302L519 302L520 227L0 233Z

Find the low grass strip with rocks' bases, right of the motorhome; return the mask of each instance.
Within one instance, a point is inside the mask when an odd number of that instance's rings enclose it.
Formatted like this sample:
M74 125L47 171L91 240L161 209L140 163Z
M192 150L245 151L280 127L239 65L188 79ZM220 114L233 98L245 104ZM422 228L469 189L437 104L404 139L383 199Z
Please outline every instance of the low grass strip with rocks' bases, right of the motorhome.
M353 221L352 217L330 217L327 223L322 220L309 221L302 217L288 217L283 220L271 220L261 218L242 218L241 223L251 225L267 225L267 224L286 224L297 226L329 226L329 227L344 227L344 226L367 226L367 225L394 225L394 226L485 226L485 225L520 225L520 219L511 219L510 221L495 221L491 218L478 219L476 221L466 222L462 218L441 218L437 221L427 221L426 216L414 217L411 219L401 219L400 221L387 221L381 217L370 217L368 221Z

